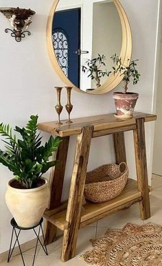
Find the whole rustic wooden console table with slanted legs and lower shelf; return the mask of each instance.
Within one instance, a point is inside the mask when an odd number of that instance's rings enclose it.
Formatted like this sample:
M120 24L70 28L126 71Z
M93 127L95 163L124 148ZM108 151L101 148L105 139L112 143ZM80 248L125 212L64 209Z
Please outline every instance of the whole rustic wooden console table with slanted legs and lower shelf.
M38 129L62 137L56 159L58 164L51 171L50 189L51 199L49 209L45 211L47 219L45 236L47 244L54 242L56 228L64 231L62 244L62 261L68 261L75 256L78 230L90 223L94 223L110 214L139 202L141 219L150 217L150 199L148 187L148 170L146 162L146 142L144 122L157 119L156 115L135 113L133 118L122 120L114 114L97 115L87 118L73 119L73 124L44 122L38 124ZM129 179L119 197L105 203L89 203L82 209L86 167L89 160L89 149L92 137L113 134L116 163L126 162L126 148L124 131L133 131L137 181ZM69 137L77 135L76 154L71 176L71 188L68 203L61 203L62 186L67 162Z

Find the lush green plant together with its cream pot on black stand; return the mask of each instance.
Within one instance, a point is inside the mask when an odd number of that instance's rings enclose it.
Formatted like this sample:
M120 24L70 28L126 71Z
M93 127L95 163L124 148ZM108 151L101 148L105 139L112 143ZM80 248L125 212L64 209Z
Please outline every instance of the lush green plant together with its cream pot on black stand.
M9 124L0 124L0 134L5 137L5 149L0 150L0 162L12 171L14 178L8 182L6 204L16 223L22 228L38 224L49 201L49 186L43 174L56 164L49 156L60 144L59 137L50 137L41 146L37 135L38 115L32 115L25 128L15 127L21 139L17 140Z

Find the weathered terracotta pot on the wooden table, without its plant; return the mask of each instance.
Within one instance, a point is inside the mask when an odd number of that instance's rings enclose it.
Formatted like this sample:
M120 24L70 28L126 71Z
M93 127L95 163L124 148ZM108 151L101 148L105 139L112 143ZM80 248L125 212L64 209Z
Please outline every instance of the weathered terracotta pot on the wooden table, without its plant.
M114 92L113 98L116 106L116 116L119 118L132 118L132 113L135 109L135 104L139 98L138 93L122 93Z

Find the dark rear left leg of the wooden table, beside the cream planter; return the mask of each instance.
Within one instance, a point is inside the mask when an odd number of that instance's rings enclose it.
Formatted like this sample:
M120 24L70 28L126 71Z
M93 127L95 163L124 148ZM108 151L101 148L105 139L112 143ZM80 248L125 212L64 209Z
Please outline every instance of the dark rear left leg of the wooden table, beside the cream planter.
M69 137L63 137L55 159L58 160L56 166L51 170L51 177L49 180L49 188L51 190L51 198L49 200L49 210L60 206L62 196L62 186L65 176L65 167L67 162L67 152L69 147ZM44 226L45 243L48 245L54 242L56 237L56 227L49 221L45 221Z

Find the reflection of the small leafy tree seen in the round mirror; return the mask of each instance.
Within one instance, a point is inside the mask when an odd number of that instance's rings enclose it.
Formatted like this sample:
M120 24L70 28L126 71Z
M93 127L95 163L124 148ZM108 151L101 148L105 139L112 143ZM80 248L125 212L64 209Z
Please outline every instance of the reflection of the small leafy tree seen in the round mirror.
M88 75L88 78L91 78L91 80L95 80L96 87L101 86L101 78L104 76L109 76L111 74L111 71L106 70L106 64L105 64L106 57L104 54L102 56L98 54L97 58L89 59L86 61L86 65L82 65L82 71ZM102 69L104 67L104 70Z

